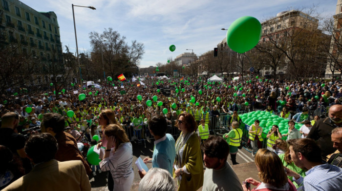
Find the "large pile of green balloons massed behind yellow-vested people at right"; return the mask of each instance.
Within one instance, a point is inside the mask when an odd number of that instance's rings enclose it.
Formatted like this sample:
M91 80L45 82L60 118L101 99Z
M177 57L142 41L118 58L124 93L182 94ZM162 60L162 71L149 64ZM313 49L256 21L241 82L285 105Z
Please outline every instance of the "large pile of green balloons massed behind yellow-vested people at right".
M260 127L262 127L263 134L262 136L265 137L266 134L272 129L273 125L278 125L279 131L281 134L287 134L288 132L288 121L289 119L284 119L279 117L278 115L271 114L265 111L254 111L247 114L239 115L242 121L247 125L252 125L255 120L260 121ZM295 124L295 128L299 129L301 125L299 123Z

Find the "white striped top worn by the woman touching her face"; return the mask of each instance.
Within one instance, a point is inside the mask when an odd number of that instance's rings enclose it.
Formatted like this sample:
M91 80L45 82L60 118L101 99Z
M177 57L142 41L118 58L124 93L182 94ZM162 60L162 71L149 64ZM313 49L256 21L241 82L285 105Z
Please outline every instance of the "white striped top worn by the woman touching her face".
M110 171L114 182L122 182L134 176L132 162L132 144L128 142L121 143L115 153L111 152L109 157L102 160L99 165L102 171Z

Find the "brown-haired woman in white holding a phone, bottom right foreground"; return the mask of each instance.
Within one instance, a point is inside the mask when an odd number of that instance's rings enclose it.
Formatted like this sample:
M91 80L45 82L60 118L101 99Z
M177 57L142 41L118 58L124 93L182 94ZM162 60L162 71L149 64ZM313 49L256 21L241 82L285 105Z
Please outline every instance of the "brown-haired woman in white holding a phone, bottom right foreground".
M256 152L255 163L261 182L253 178L245 180L257 186L252 191L297 191L296 187L287 178L284 166L276 153L267 149L259 149ZM242 185L242 188L244 191L250 191L245 184Z

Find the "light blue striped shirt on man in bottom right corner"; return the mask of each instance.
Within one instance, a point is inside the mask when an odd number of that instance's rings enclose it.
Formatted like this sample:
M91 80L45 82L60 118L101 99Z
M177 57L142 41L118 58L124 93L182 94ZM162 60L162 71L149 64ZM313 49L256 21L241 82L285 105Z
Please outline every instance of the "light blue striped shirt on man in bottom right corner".
M322 164L305 172L306 176L300 176L298 180L293 178L298 185L303 185L303 191L342 191L342 168ZM303 181L304 180L304 181Z

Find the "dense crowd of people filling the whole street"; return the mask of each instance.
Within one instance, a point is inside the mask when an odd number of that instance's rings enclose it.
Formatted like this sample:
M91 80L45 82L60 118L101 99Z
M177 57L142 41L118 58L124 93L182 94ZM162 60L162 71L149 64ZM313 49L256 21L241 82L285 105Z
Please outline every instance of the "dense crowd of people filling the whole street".
M76 84L61 92L51 89L29 95L29 91L13 94L9 90L11 94L2 95L0 153L5 157L1 159L0 189L33 190L36 187L28 182L35 181L46 182L38 184L40 188L54 187L49 182L61 184L64 179L54 179L68 174L75 176L68 182L70 190L90 190L84 179L96 175L95 166L81 152L90 143L106 148L99 156L97 171L108 173L108 189L130 190L134 178L131 143L152 138L153 156L144 162L152 163L153 168L139 172L142 191L176 187L179 191L201 187L250 190L249 184L259 190L342 189L342 84L338 80L140 80L145 85L139 80L107 81L101 88ZM329 116L308 115L318 107L330 108ZM280 134L277 125L272 127L264 140L267 150L258 145L263 141L260 122L250 126L247 133L261 182L249 178L241 185L227 159L231 154L233 164L238 164L236 153L244 124L237 113L255 110L292 120L288 134ZM295 123L302 123L300 130ZM223 137L209 135L217 126L231 131ZM328 154L332 156L327 158ZM47 172L55 174L44 175ZM313 175L318 173L327 176L318 179ZM156 179L155 174L161 178Z

